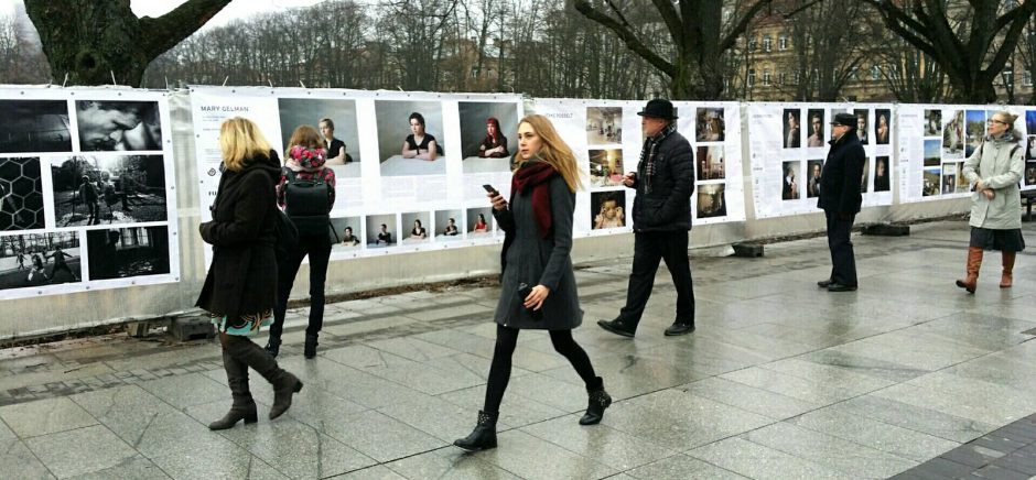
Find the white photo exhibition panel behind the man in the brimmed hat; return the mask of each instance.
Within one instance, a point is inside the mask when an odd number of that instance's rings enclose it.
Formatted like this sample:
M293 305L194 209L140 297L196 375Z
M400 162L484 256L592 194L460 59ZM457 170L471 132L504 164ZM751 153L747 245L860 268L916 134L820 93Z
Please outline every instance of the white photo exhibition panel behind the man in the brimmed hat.
M741 116L733 102L676 102L677 131L694 154L695 223L744 221L741 182ZM643 101L536 99L533 109L548 117L589 173L587 190L576 195L575 236L633 230L636 190L623 185L636 172L644 137L637 112Z

